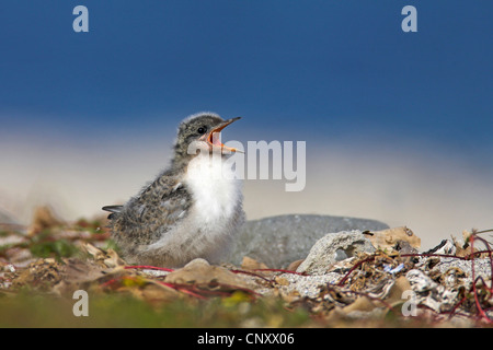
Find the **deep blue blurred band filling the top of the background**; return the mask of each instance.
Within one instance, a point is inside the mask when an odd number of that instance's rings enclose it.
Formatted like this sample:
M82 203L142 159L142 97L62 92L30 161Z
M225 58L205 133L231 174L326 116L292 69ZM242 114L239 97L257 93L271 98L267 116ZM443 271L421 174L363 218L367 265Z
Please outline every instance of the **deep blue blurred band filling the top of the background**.
M89 33L72 31L77 4ZM401 31L405 4L417 33ZM488 156L491 13L485 0L5 0L0 132L174 132L207 109L270 139L399 133Z

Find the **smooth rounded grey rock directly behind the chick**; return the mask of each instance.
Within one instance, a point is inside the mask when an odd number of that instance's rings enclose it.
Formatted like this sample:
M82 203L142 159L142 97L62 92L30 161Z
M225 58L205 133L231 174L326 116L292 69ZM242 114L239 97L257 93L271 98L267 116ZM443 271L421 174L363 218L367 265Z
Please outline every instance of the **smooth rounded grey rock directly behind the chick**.
M239 265L249 256L271 268L286 268L305 259L313 244L328 233L386 229L387 224L376 220L330 215L289 214L252 220L244 224L230 261Z

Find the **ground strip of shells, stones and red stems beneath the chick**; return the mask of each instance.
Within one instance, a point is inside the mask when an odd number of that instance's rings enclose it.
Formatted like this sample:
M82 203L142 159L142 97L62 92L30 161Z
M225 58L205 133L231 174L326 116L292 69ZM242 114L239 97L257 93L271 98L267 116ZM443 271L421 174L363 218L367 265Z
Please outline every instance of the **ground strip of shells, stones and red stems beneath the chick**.
M4 233L0 295L30 291L71 298L82 289L100 295L121 293L151 305L219 299L222 305L243 308L260 299L277 300L288 311L309 312L310 322L337 327L386 325L389 319L392 325L414 326L493 324L489 230L468 231L463 240L444 240L423 253L417 252L419 238L403 228L383 230L387 233L377 237L368 234L375 232L345 231L323 236L287 269L248 256L239 266L194 259L172 269L128 265L110 247L105 232L87 229L53 226L31 237ZM403 234L411 238L403 240ZM43 250L47 256L36 256L41 249L32 248L59 241L77 249L48 249ZM31 260L10 261L15 249L24 249Z

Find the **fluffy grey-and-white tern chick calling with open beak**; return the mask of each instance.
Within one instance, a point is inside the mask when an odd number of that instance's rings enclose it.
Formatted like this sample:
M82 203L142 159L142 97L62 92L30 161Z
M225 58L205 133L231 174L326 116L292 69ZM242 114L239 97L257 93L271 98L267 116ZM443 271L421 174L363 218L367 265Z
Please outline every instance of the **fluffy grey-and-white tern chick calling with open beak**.
M207 213L203 212L206 206L198 206L197 201L210 200L208 194L215 196L214 190L220 189L222 184L215 184L216 187L207 192L206 183L204 194L196 190L187 173L191 161L200 156L200 152L188 154L188 145L199 141L202 147L210 147L213 154L211 144L206 142L207 136L231 120L225 121L211 113L184 119L179 126L171 166L124 206L103 208L112 212L108 217L112 238L127 262L180 267L197 257L219 262L227 255L244 221L241 184L225 183L225 186L229 186L226 189L229 192L222 199L218 198L218 201L222 200L219 203L222 207L216 208L214 220L208 222ZM206 131L198 132L200 128L206 128ZM231 208L231 211L225 210L222 215L222 208Z

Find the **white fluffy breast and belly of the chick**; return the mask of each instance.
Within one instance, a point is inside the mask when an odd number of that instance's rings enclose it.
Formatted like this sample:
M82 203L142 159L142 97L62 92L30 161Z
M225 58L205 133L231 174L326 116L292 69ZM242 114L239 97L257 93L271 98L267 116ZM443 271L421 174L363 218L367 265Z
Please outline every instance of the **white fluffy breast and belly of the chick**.
M197 155L181 183L192 195L192 207L160 240L142 247L142 254L167 266L182 266L196 257L219 262L242 221L241 182L228 162Z

